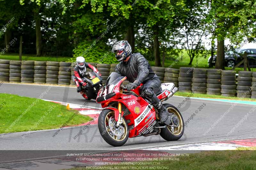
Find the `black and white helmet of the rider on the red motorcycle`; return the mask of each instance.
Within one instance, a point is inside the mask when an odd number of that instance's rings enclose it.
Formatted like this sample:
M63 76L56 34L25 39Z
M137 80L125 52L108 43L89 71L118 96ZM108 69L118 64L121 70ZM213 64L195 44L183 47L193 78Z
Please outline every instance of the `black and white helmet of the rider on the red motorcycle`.
M112 53L116 53L117 61L123 61L132 53L132 47L128 41L118 41L114 44Z

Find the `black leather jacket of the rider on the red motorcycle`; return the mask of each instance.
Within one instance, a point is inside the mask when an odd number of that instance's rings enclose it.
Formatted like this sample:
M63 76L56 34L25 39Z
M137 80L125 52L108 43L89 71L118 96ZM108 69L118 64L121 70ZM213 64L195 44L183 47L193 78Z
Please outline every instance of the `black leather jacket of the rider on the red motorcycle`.
M116 72L122 76L126 76L127 80L133 83L138 80L140 83L145 83L153 77L157 77L148 60L140 53L131 55L127 62L121 61L116 65Z

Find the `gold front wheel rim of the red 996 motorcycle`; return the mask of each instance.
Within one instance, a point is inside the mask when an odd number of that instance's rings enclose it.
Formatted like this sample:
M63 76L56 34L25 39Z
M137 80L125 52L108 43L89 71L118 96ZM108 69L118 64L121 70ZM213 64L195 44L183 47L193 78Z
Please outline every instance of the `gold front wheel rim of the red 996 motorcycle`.
M111 132L109 126L107 125L107 124L108 124L108 121L109 121L109 118L110 118L111 116L115 116L115 112L114 112L114 111L108 112L108 114L105 116L105 129L106 129L106 131L108 132L108 135L109 135L110 137L112 137L114 140L116 140L116 141L123 141L123 140L126 138L126 136L127 136L127 126L126 126L126 124L125 124L124 121L123 121L122 124L120 124L120 126L122 126L122 125L124 126L124 134L123 134L121 137L118 138L116 135L114 135L114 134Z

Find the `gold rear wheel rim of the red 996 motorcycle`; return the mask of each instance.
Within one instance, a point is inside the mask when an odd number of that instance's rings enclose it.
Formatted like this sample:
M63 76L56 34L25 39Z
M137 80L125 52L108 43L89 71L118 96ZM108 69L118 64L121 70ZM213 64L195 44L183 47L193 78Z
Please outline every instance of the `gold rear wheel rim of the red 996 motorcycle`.
M178 136L183 130L183 121L181 119L180 113L173 107L167 107L167 110L169 113L176 115L179 119L179 126L177 128L167 125L167 128L172 133L172 135Z

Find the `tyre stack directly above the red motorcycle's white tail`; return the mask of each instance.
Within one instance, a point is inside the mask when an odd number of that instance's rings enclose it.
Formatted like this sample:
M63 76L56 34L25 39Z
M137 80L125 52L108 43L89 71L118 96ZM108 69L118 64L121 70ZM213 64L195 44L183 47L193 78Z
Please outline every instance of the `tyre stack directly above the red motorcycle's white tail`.
M178 87L179 69L165 68L164 83L174 83Z

